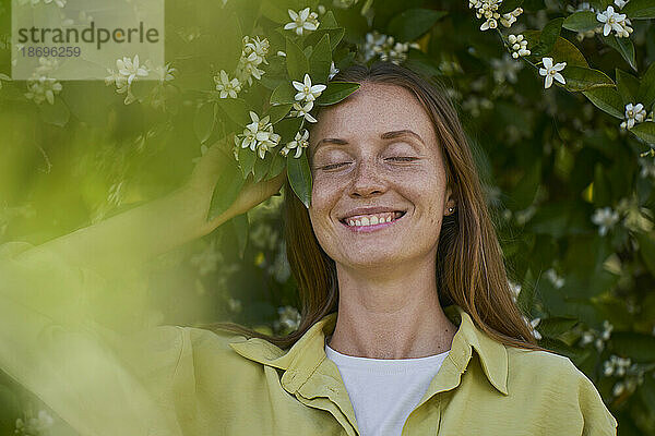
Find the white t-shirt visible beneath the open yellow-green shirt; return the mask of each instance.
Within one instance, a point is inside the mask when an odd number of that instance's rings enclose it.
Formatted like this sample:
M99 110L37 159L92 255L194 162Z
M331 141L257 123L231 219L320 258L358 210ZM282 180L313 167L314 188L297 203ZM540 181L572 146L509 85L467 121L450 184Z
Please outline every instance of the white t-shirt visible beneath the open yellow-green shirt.
M342 354L325 343L362 436L400 436L449 351L417 359L369 359Z

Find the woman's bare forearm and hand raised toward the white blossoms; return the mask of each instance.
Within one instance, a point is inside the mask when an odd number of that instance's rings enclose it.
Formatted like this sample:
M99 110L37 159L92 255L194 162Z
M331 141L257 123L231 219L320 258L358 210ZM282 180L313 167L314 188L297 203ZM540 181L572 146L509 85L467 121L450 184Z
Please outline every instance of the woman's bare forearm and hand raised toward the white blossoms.
M286 171L270 181L247 182L230 208L207 221L214 185L229 158L223 144L214 144L187 183L172 193L36 246L21 257L48 251L100 274L124 270L210 233L279 191Z

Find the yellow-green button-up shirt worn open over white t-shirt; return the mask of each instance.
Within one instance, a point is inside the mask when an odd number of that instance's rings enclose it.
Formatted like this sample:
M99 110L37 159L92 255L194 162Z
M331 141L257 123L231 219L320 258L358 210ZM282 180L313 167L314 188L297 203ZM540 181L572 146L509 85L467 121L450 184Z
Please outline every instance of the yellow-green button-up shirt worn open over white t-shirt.
M289 350L192 327L117 334L70 308L80 306L70 295L107 286L97 276L47 256L15 261L8 254L16 246L2 249L0 367L80 434L359 434L324 351L336 313ZM616 434L617 421L568 358L505 347L460 306L445 313L457 332L403 435Z

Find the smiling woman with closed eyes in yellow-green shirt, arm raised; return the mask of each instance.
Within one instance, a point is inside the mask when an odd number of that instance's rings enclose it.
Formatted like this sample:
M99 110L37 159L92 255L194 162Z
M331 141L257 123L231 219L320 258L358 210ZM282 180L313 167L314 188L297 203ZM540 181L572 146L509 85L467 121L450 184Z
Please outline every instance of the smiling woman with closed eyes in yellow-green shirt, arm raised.
M279 190L284 174L248 185L205 222L224 157L214 146L165 198L31 250L4 246L0 315L13 322L3 325L2 368L82 434L616 434L593 384L537 347L514 305L443 93L392 63L334 80L361 87L311 129L309 210L285 196L302 302L296 332L221 325L127 336L68 316L75 289L207 234ZM43 266L53 277L27 278ZM69 303L35 307L29 293L40 286Z

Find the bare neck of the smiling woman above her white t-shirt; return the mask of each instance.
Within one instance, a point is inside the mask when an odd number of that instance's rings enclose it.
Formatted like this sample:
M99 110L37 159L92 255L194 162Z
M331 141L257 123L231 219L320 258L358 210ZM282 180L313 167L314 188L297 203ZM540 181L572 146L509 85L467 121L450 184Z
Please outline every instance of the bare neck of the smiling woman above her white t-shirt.
M433 261L374 274L337 264L337 276L332 349L370 359L415 359L450 350L457 327L439 303Z

